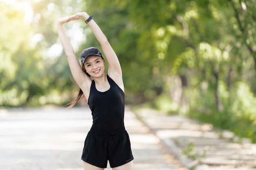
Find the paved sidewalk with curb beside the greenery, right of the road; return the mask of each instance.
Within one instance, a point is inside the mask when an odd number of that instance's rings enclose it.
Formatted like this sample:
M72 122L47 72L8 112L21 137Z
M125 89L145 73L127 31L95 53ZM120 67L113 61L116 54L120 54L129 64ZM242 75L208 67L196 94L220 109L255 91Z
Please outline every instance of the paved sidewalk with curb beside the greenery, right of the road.
M151 131L183 166L194 170L256 170L256 144L228 131L216 131L180 115L166 116L149 109L136 111Z

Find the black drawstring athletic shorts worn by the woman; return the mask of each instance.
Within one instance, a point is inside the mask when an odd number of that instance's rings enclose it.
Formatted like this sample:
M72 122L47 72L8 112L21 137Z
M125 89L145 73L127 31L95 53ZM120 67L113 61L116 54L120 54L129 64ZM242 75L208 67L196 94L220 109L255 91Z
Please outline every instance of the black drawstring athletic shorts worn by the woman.
M102 132L91 128L85 139L83 161L99 168L124 165L133 160L129 135L125 129Z

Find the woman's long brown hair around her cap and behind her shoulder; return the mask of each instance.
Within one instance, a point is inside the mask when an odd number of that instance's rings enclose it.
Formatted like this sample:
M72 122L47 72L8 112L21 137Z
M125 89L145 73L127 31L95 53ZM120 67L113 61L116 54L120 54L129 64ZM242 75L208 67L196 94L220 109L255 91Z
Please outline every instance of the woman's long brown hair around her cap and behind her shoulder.
M90 50L90 49L96 49L96 48L95 48L95 47L90 47L90 48L88 48L88 49L85 49L85 50L81 53L81 57L83 57L84 53L85 53L86 51ZM98 49L97 49L97 50L98 50ZM104 60L104 58L103 58L102 56L101 56L101 58L102 58L103 62L105 62L105 60ZM84 72L88 77L91 78L91 76L86 72L85 66L84 66L83 63L81 63L81 68L82 68L83 72ZM69 104L67 104L67 106L68 106L67 109L70 109L70 108L74 107L83 97L84 97L83 91L81 90L81 88L79 88L79 92L78 92L76 98L75 98L74 100L72 100Z

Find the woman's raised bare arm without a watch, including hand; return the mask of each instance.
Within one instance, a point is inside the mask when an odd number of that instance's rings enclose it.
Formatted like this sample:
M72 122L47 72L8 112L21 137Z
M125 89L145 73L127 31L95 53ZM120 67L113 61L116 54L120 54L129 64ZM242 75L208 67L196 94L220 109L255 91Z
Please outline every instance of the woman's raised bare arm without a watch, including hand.
M91 84L91 79L88 77L82 70L79 61L76 58L76 55L74 53L74 49L72 44L70 43L70 40L67 38L67 35L65 33L65 30L63 28L63 24L66 22L70 22L72 20L77 20L79 18L74 18L72 16L63 17L58 20L57 26L58 26L58 35L61 40L61 44L63 46L63 49L65 51L65 54L67 55L67 61L70 66L70 71L72 73L72 76L74 77L74 80L78 84L78 86L83 90L86 91L88 87Z

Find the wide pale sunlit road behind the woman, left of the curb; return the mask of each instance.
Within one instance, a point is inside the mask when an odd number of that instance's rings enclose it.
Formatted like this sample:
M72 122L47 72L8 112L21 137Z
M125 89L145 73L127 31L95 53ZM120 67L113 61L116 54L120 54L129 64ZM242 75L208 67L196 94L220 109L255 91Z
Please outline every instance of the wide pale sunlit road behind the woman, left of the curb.
M0 170L83 170L81 152L91 124L88 107L0 110ZM130 110L125 125L134 170L187 170Z

